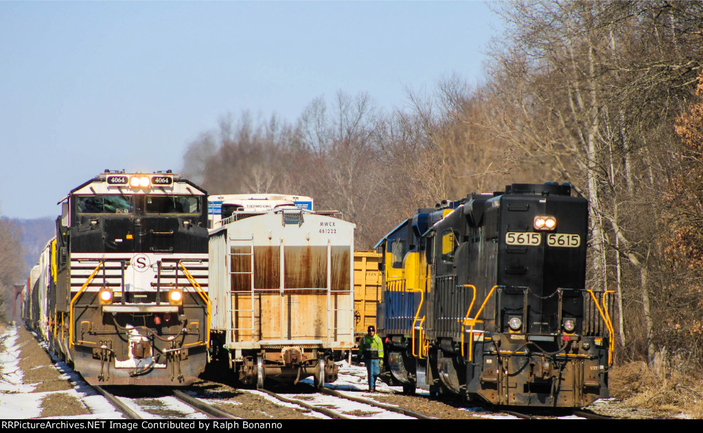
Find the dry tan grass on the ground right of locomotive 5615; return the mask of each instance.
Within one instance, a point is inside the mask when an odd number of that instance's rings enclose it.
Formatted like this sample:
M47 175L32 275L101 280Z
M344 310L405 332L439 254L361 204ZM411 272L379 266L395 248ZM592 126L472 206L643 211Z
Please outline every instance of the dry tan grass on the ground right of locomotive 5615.
M628 406L638 406L689 418L703 418L703 380L695 368L674 365L657 356L648 368L646 363L632 362L610 370L610 395Z

